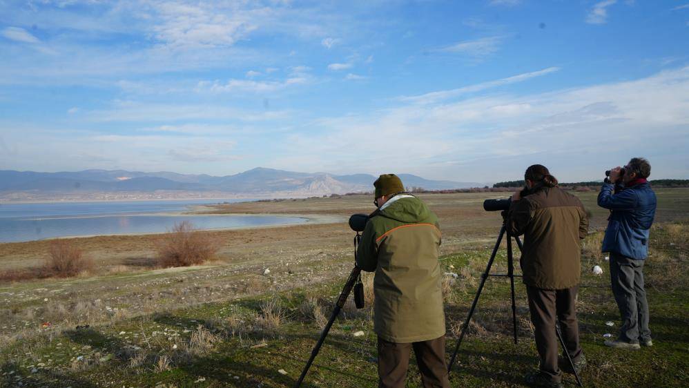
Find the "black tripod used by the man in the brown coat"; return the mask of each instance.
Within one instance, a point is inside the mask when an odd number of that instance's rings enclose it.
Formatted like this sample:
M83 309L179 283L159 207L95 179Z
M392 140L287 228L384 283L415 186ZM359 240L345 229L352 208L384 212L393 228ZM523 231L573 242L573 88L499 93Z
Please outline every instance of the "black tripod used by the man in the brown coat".
M490 273L490 269L493 266L493 261L495 260L495 256L498 253L498 249L500 248L500 244L503 241L503 236L507 234L507 273ZM476 290L476 296L474 297L474 302L472 303L472 308L469 309L469 316L467 316L467 320L465 320L464 324L462 325L462 331L459 335L459 338L457 340L457 345L454 348L454 353L452 353L452 358L450 358L449 365L447 366L447 373L449 374L450 371L452 371L452 366L454 365L454 360L457 356L457 352L459 351L459 346L462 344L462 340L464 338L465 333L467 332L467 328L469 327L469 322L472 320L472 316L474 316L474 311L476 311L476 304L478 304L478 298L481 297L481 291L483 291L483 286L485 285L485 281L489 276L499 276L499 277L507 277L510 278L510 290L511 290L511 296L512 296L512 333L514 334L514 343L517 343L517 337L516 337L516 304L514 303L514 277L515 276L521 276L521 275L514 275L514 256L512 255L512 238L516 241L517 246L519 247L519 251L522 251L523 246L521 244L521 240L519 240L519 237L517 236L512 236L510 231L507 231L507 228L503 224L502 228L500 229L500 233L498 234L498 240L495 242L495 246L493 247L493 252L490 255L490 259L488 260L488 264L485 267L485 271L483 274L481 274L481 284L478 285L478 290ZM576 383L579 385L579 387L582 387L583 385L581 384L581 379L579 378L579 374L576 372L576 369L574 369L574 362L572 361L572 357L570 356L570 352L567 351L567 347L565 347L565 341L562 338L562 333L560 332L560 328L555 326L555 333L557 335L557 338L560 340L560 345L562 346L563 353L567 355L567 360L570 362L570 366L572 367L572 371L574 371L574 377L576 377Z

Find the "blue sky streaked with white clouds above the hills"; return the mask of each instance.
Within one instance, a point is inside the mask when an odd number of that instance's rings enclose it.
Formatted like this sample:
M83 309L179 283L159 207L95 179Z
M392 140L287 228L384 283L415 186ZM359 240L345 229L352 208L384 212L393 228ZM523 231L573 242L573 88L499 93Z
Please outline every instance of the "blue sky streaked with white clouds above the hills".
M0 0L0 170L579 182L688 151L688 0Z

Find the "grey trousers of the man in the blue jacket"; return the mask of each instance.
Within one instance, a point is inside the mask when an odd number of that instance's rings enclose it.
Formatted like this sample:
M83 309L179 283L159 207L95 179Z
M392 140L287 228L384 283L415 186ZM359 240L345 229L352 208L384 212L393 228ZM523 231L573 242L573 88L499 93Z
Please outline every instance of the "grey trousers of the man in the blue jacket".
M610 282L622 316L619 340L639 343L651 339L648 329L648 300L643 289L643 262L610 253Z

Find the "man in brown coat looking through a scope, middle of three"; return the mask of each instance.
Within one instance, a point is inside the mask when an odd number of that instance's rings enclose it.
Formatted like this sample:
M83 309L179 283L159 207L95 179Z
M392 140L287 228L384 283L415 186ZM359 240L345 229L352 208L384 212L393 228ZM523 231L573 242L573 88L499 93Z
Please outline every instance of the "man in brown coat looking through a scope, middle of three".
M512 195L505 221L512 235L524 235L521 269L541 358L540 371L528 374L526 380L536 387L561 387L556 316L577 372L586 362L579 346L574 299L588 217L579 198L562 191L545 166L530 166L524 178L526 188Z

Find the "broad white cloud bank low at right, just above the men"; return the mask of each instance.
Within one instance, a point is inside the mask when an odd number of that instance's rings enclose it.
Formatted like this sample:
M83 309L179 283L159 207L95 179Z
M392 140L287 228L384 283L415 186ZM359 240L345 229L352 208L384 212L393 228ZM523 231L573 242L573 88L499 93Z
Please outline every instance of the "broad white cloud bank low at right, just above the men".
M293 168L302 171L313 166L322 171L418 171L460 182L485 182L485 173L494 171L490 180L497 182L543 163L563 182L576 182L594 179L603 166L645 155L658 162L656 177L686 176L689 67L550 93L402 104L368 115L321 119L313 129L284 144L307 152L275 164L294 162ZM385 139L385 148L361 142L373 132ZM601 136L618 141L597 141Z

